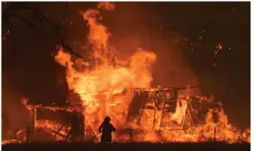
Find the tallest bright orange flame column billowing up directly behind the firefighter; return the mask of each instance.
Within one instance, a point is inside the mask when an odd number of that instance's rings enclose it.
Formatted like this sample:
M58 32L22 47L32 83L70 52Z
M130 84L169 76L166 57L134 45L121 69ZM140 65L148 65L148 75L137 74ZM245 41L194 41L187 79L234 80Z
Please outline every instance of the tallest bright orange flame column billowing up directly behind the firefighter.
M98 8L112 10L114 5L100 3ZM124 124L129 102L126 98L113 100L112 96L128 88L148 88L153 80L150 65L156 61L156 54L139 48L126 62L127 66L115 65L117 60L111 52L115 50L109 45L107 28L98 22L99 15L97 9L83 13L90 28L88 41L92 45L92 62L71 61L71 55L61 47L55 61L66 66L69 88L81 97L86 126L98 126L109 115L115 117L113 122L119 127ZM81 67L81 64L86 65ZM76 65L80 66L80 71L76 70Z

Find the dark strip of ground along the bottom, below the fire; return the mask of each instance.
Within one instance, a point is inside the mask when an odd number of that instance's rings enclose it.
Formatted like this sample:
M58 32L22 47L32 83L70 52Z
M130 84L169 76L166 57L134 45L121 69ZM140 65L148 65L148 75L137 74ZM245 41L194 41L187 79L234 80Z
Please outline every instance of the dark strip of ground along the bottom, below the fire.
M182 144L150 144L150 143L127 143L127 144L109 144L109 145L99 145L99 144L89 144L89 143L77 143L77 144L67 144L67 143L52 143L52 144L31 144L31 145L5 145L2 146L3 151L79 151L79 150L129 150L133 149L139 150L155 150L155 151L249 151L251 150L251 144L233 144L229 145L226 143L182 143Z

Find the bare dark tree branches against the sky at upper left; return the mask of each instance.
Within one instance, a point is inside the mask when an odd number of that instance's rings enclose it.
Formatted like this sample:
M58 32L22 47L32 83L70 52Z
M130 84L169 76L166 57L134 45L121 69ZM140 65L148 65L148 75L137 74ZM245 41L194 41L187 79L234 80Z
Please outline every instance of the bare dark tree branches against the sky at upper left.
M62 24L65 23L65 16L68 12L69 3L66 2L64 6L64 11L62 14ZM29 20L26 18L23 13L29 13L33 14L33 17L36 19L35 22ZM71 55L75 57L82 58L80 54L77 52L74 52L69 45L67 45L65 41L65 37L61 35L62 32L62 24L56 24L52 22L50 19L48 19L41 11L40 11L40 3L26 3L26 2L8 2L5 3L5 7L3 8L2 12L3 17L3 28L2 33L3 39L5 40L5 37L10 34L10 38L12 39L14 43L14 54L15 54L15 47L16 42L14 41L14 23L13 19L20 20L24 22L24 24L29 25L31 28L33 28L37 33L42 33L44 36L46 36L50 41L56 43L57 45L62 46L62 48L70 52ZM45 26L51 26L52 29L55 31L55 35L52 36L49 34L45 28Z

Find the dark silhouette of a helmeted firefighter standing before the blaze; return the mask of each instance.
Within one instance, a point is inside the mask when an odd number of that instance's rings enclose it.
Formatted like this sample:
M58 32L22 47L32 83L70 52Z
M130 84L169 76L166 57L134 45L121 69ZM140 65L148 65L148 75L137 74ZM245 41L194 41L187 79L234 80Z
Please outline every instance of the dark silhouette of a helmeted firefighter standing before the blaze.
M99 131L102 132L100 143L111 143L112 132L116 131L116 128L110 123L111 118L108 116L104 119L99 127Z

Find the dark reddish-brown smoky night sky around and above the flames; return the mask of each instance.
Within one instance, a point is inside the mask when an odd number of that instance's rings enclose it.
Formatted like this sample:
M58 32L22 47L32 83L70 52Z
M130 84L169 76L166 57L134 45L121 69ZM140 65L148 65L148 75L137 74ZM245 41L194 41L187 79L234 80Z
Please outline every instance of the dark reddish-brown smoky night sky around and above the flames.
M5 11L8 4L3 5ZM62 23L65 3L28 5L40 8L56 24ZM153 85L201 84L204 95L213 94L216 100L223 101L232 123L250 127L250 3L115 5L114 11L102 13L102 23L112 33L109 41L119 50L120 57L131 55L137 47L156 52ZM85 59L88 51L82 49L81 43L86 42L88 29L79 10L95 6L94 3L70 3L61 30L65 42ZM39 24L33 14L19 14ZM19 106L18 94L14 95L13 91L33 102L63 102L67 95L66 84L62 82L65 73L52 58L56 43L24 22L9 19L4 22L4 29L10 28L7 23L13 24L13 30L2 40L3 112L9 114L11 111L7 108ZM47 31L54 37L53 30ZM214 56L218 43L223 49Z

